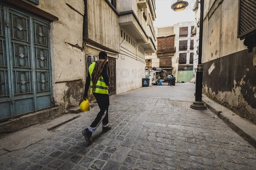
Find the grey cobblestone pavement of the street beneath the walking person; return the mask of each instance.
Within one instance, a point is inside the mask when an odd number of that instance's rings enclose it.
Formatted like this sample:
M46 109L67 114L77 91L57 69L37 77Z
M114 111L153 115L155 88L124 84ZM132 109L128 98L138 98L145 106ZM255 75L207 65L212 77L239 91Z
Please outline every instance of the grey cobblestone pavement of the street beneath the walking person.
M102 133L99 127L93 144L85 142L81 130L90 125L98 107L36 144L0 156L0 169L255 170L254 147L221 119L212 118L211 111L192 110L191 101L183 101L191 99L194 88L177 83L111 96L112 130ZM22 144L28 139L12 140Z

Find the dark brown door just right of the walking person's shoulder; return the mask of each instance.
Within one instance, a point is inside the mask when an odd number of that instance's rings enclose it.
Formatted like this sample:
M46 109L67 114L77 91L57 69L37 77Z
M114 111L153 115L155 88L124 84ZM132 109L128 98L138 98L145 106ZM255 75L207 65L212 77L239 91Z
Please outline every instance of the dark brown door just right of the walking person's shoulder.
M116 59L108 57L109 65L109 86L108 93L110 95L116 94Z

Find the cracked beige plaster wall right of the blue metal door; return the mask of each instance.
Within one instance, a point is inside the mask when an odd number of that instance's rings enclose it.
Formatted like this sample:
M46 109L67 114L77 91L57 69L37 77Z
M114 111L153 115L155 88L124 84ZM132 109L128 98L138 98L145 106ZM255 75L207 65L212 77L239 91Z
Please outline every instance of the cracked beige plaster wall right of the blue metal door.
M39 6L24 1L58 17L49 31L53 97L56 105L66 109L79 105L85 77L84 0L40 0Z

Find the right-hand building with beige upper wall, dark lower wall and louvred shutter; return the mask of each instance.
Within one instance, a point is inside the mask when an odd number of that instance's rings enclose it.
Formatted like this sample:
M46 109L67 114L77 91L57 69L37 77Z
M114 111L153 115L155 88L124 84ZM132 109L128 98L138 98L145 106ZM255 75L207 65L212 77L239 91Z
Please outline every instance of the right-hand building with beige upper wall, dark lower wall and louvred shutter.
M256 124L255 1L205 4L203 93Z

